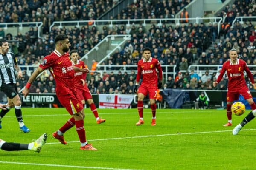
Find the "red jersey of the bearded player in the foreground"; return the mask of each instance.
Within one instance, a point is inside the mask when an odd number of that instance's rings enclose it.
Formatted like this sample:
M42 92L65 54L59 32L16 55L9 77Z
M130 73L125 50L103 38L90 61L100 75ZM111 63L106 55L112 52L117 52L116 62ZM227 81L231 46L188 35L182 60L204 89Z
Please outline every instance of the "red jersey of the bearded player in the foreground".
M61 55L55 49L44 57L39 67L49 68L56 82L56 94L67 95L75 89L75 71L68 53Z

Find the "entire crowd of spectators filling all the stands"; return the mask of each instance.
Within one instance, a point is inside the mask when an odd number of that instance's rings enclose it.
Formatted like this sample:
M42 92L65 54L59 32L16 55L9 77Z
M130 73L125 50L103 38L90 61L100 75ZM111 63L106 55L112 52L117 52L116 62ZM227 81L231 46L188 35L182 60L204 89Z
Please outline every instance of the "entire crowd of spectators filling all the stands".
M76 4L76 2L79 2ZM94 3L93 3L94 2ZM144 2L144 1L143 1ZM134 1L128 8L122 10L120 14L116 16L117 19L126 18L172 18L173 14L177 13L177 10L182 9L190 1L178 1L174 0L172 3L168 1ZM209 85L201 85L200 79L195 81L189 78L191 70L188 70L186 65L206 65L201 67L201 71L198 72L200 76L204 75L205 70L209 69L207 65L221 65L228 59L227 52L231 48L236 48L239 53L239 57L246 60L248 65L256 63L255 59L255 25L250 22L239 23L236 22L232 26L232 22L235 16L255 16L256 4L254 1L240 1L236 0L232 6L227 6L219 16L224 17L222 29L218 34L218 25L216 23L188 23L188 24L169 24L163 23L157 25L151 23L150 28L146 28L143 25L125 26L119 24L114 29L105 26L102 31L98 31L97 26L82 26L81 28L57 28L53 27L49 32L49 26L53 21L61 20L95 20L102 12L111 8L117 3L117 0L110 1L75 1L74 3L65 4L64 1L60 1L58 6L55 5L56 1L47 3L47 1L25 1L21 4L19 1L12 2L12 14L8 15L6 8L0 9L0 13L6 15L1 17L3 22L20 22L20 21L42 21L43 22L43 39L38 39L36 28L31 29L26 34L19 33L17 36L12 34L5 34L5 30L0 28L0 37L5 37L8 40L13 40L12 51L19 58L19 65L35 65L37 66L44 55L48 54L54 48L53 38L56 34L64 33L68 34L71 38L72 48L79 51L80 56L83 56L90 51L99 41L105 36L111 34L131 34L131 40L125 44L123 49L119 50L119 54L114 54L110 57L106 63L112 63L113 65L136 65L138 59L141 58L142 49L147 46L152 48L152 57L159 59L162 65L177 65L175 74L177 74L177 81L173 79L171 75L168 75L168 79L165 80L164 88L207 88L211 89ZM1 6L10 6L9 1L1 2ZM54 7L54 8L53 8ZM174 8L175 7L175 8ZM104 8L104 10L101 10ZM141 12L143 9L147 12ZM63 9L63 10L61 10ZM59 12L62 11L63 17L58 17ZM169 12L167 12L169 11ZM226 14L225 14L226 13ZM230 15L232 14L232 15ZM1 15L1 16L3 16ZM225 17L227 15L227 17ZM8 17L9 16L9 17ZM239 21L239 20L238 20ZM227 25L227 23L229 23ZM184 57L184 59L182 59ZM113 68L113 67L112 67ZM252 68L253 69L253 68ZM131 71L131 70L130 70ZM115 77L117 87L113 88L111 92L105 93L131 93L131 87L134 82L134 75L130 79L129 73L124 75L111 74L111 77ZM180 76L180 73L182 76ZM111 70L108 71L110 74ZM122 71L123 72L123 71ZM215 72L209 72L212 74L211 81L214 80ZM20 80L18 88L22 88L27 81L24 71L24 78ZM92 89L92 93L99 91L100 82L103 82L103 86L106 87L106 81L111 83L111 79L102 80L102 74L94 73L92 77L88 77L88 85ZM169 79L171 77L172 79ZM32 88L32 91L38 93L54 92L54 81L49 75L44 79L38 79ZM40 85L40 83L41 85ZM38 85L39 83L39 85ZM108 83L107 83L108 84ZM187 85L189 84L189 86ZM209 83L208 83L209 84ZM40 86L40 87L39 87ZM129 87L128 87L129 86ZM226 87L225 85L223 87ZM223 89L223 87L217 87ZM127 89L122 91L122 89ZM102 93L102 90L101 90Z

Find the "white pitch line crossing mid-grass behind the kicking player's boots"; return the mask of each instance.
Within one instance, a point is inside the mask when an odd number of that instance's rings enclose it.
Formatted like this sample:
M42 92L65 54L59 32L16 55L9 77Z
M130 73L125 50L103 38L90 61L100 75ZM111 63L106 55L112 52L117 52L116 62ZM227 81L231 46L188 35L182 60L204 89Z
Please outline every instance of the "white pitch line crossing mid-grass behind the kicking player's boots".
M243 131L247 130L256 130L256 129L242 129ZM162 134L162 135L146 135L146 136L130 136L130 137L120 137L120 138L107 138L107 139L92 139L88 141L106 141L106 140L119 140L119 139L134 139L134 138L148 138L148 137L159 137L159 136L176 136L176 135L195 135L195 134L204 134L204 133L221 133L221 132L232 132L232 130L218 130L218 131L207 131L207 132L191 132L191 133L172 133L172 134ZM79 141L69 141L68 143L74 143ZM61 144L60 142L46 143L46 144Z

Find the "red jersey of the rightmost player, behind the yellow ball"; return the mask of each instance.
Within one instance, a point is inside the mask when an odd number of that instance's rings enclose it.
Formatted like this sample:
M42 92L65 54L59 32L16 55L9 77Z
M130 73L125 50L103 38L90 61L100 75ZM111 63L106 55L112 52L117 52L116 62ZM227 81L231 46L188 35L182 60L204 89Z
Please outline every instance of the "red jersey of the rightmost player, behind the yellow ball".
M224 62L221 68L220 75L217 79L218 83L221 81L226 71L228 77L228 91L237 91L237 89L247 86L244 80L244 71L247 73L250 81L254 83L253 75L244 60L237 59L236 64L232 64L231 60Z

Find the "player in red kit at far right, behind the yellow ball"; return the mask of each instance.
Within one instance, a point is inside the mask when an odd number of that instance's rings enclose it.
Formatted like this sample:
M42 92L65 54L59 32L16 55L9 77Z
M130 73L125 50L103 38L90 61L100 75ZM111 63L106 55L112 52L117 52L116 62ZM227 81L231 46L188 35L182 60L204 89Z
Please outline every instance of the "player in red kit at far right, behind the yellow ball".
M236 49L231 49L229 51L230 60L224 62L221 68L221 73L218 76L216 82L213 82L215 87L222 79L224 73L227 71L228 85L227 85L227 124L223 126L232 126L232 112L231 105L234 100L239 99L239 94L244 96L244 99L248 101L252 110L256 109L256 105L253 102L253 96L251 95L246 82L244 80L244 71L247 73L250 81L255 87L253 75L250 72L245 61L238 59L238 54Z

